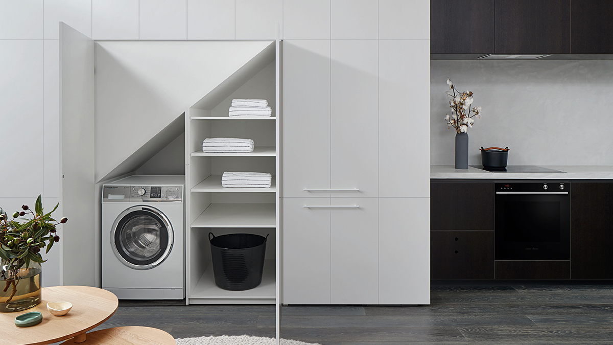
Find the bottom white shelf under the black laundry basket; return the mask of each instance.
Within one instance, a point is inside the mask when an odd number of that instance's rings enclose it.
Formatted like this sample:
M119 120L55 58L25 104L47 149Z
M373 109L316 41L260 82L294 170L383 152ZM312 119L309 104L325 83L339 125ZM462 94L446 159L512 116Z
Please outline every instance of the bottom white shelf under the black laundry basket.
M192 290L189 303L270 303L275 304L275 260L264 260L262 283L253 289L245 291L228 291L215 285L213 265L200 277L200 281Z

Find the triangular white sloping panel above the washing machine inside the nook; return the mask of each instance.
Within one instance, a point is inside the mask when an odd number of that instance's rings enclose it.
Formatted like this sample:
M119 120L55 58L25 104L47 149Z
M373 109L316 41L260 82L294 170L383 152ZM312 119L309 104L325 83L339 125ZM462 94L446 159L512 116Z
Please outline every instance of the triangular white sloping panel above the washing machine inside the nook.
M103 179L128 158L138 162L139 157L131 157L137 150L177 120L187 107L234 76L269 44L264 41L97 42L96 180ZM226 97L223 95L221 99ZM116 173L129 172L129 165L126 166L128 171Z

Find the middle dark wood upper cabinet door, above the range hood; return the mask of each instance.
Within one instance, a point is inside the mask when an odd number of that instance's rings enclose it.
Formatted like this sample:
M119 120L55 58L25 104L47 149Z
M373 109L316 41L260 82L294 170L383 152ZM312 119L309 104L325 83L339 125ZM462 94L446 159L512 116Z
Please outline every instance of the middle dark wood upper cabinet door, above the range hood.
M495 53L571 53L570 0L495 1Z

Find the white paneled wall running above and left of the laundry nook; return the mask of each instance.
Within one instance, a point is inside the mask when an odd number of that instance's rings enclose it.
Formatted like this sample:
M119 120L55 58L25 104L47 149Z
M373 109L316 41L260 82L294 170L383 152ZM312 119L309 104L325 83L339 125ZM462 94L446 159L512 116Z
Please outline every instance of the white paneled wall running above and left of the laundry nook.
M428 39L428 10L422 0L0 0L0 147L19 167L0 169L0 206L61 197L59 21L95 40L275 39L277 21L282 39ZM57 256L45 285L61 284Z

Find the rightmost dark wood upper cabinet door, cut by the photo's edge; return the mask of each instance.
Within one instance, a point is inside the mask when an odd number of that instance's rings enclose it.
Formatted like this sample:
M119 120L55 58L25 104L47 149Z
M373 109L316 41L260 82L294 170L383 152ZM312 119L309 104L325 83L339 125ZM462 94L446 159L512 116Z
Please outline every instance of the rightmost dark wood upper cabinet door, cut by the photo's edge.
M571 53L613 54L613 1L571 1Z

